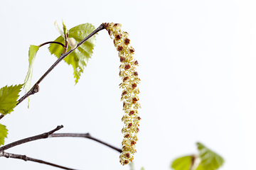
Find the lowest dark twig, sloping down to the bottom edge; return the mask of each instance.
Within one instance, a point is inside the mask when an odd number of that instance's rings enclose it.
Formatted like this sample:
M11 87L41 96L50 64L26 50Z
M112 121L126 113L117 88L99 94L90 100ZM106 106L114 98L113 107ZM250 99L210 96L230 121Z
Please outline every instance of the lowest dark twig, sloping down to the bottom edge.
M0 154L0 157L22 159L24 161L31 161L31 162L38 162L38 163L41 163L41 164L48 164L50 166L55 166L55 167L60 168L60 169L75 170L75 169L67 168L65 166L60 166L58 164L53 164L53 163L50 163L50 162L45 162L45 161L42 161L40 159L33 159L31 157L27 157L26 155L11 154L11 153L7 153L7 152L1 152L1 153L2 153L2 155Z

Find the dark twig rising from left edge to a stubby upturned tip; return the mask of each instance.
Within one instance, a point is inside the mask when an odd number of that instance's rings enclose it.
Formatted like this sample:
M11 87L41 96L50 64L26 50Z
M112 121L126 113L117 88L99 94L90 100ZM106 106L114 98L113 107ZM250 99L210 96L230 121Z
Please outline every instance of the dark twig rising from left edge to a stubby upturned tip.
M11 147L15 147L17 145L21 145L21 144L26 143L26 142L31 142L33 140L41 140L41 139L48 138L48 137L50 137L50 135L53 134L53 132L55 132L57 130L60 130L61 128L63 128L63 125L58 125L57 128L55 128L54 130L50 130L50 132L45 132L41 135L36 135L36 136L33 136L33 137L27 137L23 140L18 140L16 142L12 142L8 145L5 145L4 147L0 147L0 154L1 154L1 152L4 152L4 150L9 149Z

